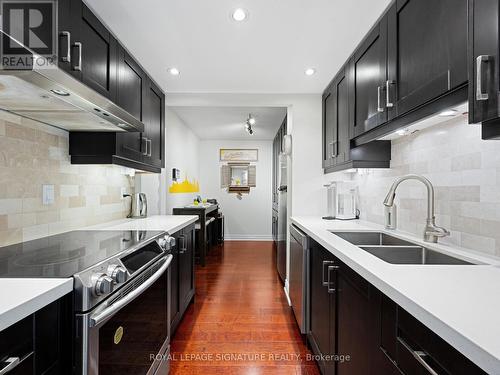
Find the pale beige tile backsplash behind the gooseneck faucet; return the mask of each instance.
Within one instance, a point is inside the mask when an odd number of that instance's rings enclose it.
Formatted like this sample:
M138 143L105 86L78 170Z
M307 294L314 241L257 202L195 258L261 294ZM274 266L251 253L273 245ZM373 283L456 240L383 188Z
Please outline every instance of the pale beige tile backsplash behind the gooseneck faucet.
M481 127L467 124L466 116L393 140L391 169L351 177L359 186L361 218L383 224L382 201L394 179L407 173L423 174L435 187L436 222L451 231L441 242L500 256L500 141L481 140ZM425 187L403 182L396 204L398 229L421 236Z

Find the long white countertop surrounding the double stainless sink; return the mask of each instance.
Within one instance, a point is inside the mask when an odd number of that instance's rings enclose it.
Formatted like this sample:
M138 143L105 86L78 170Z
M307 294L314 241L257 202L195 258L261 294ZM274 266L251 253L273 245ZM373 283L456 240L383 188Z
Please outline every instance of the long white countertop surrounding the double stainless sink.
M362 221L292 217L346 265L489 374L500 374L500 262ZM382 231L479 265L396 265L330 231Z

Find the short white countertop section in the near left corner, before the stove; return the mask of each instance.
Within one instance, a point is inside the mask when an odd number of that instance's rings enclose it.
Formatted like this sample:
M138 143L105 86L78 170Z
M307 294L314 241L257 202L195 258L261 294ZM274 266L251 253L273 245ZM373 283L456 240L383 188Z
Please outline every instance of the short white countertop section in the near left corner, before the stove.
M73 290L69 279L0 279L0 331Z

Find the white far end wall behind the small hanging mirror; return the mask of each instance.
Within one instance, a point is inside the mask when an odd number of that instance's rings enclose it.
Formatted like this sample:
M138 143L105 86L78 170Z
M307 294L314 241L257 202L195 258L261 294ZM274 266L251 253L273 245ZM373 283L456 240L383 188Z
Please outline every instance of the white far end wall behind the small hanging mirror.
M220 187L219 149L256 148L257 186L239 200ZM227 240L271 240L272 141L203 140L200 142L200 185L203 198L216 198L225 216Z

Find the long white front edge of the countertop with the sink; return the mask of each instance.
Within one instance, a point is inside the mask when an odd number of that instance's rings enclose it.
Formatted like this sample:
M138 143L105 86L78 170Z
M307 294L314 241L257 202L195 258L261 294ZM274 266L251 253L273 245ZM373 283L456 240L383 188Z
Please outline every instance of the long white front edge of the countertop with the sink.
M330 253L338 257L347 266L351 267L360 276L362 276L364 279L373 284L382 293L386 294L387 297L391 298L394 302L396 302L398 305L400 305L402 308L408 311L422 324L424 324L430 330L435 332L438 336L440 336L448 344L453 346L465 357L470 359L477 366L481 367L487 373L493 374L495 373L495 371L498 372L498 369L500 368L500 359L496 358L494 355L484 350L481 346L478 346L469 338L451 328L449 325L446 324L446 322L435 317L427 310L422 308L418 303L414 302L413 300L411 300L410 298L399 292L393 286L384 282L382 278L371 273L370 271L365 269L362 265L355 262L349 256L344 254L342 251L336 249L334 246L323 240L319 235L317 235L314 232L314 230L300 223L300 218L297 219L291 217L290 220L294 225L298 226L301 230L306 232L306 234L310 236L313 240L318 242Z

